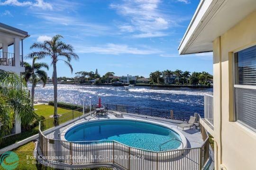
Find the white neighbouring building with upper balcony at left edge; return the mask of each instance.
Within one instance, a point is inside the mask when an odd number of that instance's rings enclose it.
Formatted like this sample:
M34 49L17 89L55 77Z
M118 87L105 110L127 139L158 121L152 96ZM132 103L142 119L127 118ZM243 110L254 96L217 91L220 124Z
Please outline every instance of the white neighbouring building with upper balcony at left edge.
M0 69L17 74L25 71L23 67L23 40L27 37L29 35L26 31L0 23ZM18 134L20 132L20 122L16 120L11 133Z

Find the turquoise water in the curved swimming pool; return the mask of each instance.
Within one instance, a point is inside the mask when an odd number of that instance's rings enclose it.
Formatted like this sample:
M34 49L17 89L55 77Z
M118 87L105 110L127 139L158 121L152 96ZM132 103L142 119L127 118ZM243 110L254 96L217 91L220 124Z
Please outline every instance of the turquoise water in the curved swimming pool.
M115 140L122 144L150 151L160 151L159 145L181 137L173 130L159 125L133 120L102 120L83 123L68 130L67 141ZM181 142L172 140L161 145L162 151L177 149Z

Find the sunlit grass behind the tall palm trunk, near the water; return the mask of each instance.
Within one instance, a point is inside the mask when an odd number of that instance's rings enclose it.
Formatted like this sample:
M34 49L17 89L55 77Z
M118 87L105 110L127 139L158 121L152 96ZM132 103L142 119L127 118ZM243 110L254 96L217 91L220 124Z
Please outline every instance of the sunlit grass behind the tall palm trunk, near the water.
M37 113L38 116L43 116L45 119L49 118L51 115L54 114L54 107L53 106L49 106L49 105L36 105L34 106L35 112ZM70 110L67 109L63 109L63 108L58 108L58 114L62 114L62 113L66 113Z

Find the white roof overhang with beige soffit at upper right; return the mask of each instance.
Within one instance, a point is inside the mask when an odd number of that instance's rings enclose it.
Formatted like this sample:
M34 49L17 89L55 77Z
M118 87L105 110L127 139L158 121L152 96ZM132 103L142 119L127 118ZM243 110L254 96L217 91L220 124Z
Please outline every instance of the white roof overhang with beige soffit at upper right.
M256 0L201 0L179 45L179 54L212 51L212 42L256 11Z

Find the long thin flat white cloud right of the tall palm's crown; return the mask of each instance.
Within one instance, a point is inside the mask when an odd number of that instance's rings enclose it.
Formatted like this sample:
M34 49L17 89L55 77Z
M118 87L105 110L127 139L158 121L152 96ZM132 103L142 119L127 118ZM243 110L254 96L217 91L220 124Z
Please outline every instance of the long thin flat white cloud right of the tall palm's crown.
M157 49L149 49L143 48L138 49L137 47L130 47L126 44L114 44L107 43L101 46L82 46L82 45L74 45L76 52L78 53L96 53L96 54L139 54L139 55L148 55L148 54L156 54L162 51Z

